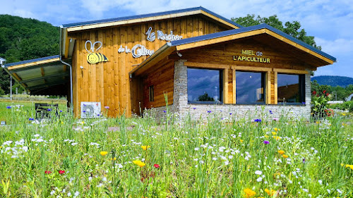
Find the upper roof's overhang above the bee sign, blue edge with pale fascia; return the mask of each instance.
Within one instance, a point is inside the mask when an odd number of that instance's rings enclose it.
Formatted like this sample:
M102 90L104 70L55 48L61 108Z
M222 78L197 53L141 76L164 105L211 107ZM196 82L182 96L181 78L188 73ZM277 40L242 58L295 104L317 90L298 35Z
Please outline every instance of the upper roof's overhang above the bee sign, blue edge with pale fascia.
M203 15L208 17L212 20L217 21L218 23L231 27L234 29L238 29L242 27L241 25L234 23L232 20L224 18L222 16L217 15L211 11L203 7L196 7L196 8L186 8L177 11L167 11L161 13L150 13L138 16L128 16L128 17L121 17L121 18L110 18L105 20L92 20L82 23L69 23L64 24L62 27L67 29L67 32L76 32L80 30L89 30L94 28L101 28L101 27L111 27L111 26L118 26L118 25L129 25L133 23L145 23L154 20L165 20L169 18L179 18L184 16L193 16L193 15Z

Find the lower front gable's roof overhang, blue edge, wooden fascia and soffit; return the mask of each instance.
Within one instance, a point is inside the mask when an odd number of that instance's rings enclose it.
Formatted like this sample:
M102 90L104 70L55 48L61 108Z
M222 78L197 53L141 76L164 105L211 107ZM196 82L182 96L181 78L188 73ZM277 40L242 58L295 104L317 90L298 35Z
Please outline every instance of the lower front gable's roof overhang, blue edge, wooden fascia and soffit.
M245 37L253 37L256 35L269 35L270 37L284 42L285 44L288 44L294 47L295 49L298 49L299 51L311 54L312 56L315 56L316 58L323 61L323 64L321 66L333 64L336 61L335 57L330 56L329 54L326 54L325 52L316 49L310 46L309 44L301 42L299 39L291 37L285 34L284 32L277 30L274 27L271 27L270 25L261 24L254 25L251 27L242 27L237 30L228 30L210 35L203 35L199 37L191 37L187 39L168 42L167 44L164 44L163 47L158 49L155 54L152 54L152 56L148 57L145 61L143 61L143 63L140 63L138 67L131 70L130 77L133 77L133 75L142 75L143 72L151 68L153 64L162 60L163 58L171 54L173 51L195 49L198 47L205 47L211 44L229 42L232 40L241 39Z

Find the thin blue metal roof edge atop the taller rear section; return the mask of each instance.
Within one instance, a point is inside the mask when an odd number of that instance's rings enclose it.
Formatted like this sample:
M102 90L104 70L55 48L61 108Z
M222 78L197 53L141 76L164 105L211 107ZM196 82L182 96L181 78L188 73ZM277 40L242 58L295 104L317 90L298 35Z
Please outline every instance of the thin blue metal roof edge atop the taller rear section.
M205 11L206 13L210 13L213 16L216 16L217 18L220 18L222 20L227 21L228 23L231 23L237 27L243 27L239 25L238 23L234 23L234 21L229 20L227 18L224 18L220 15L217 15L216 13L213 13L209 11L206 8L203 7L196 7L196 8L186 8L186 9L181 9L181 10L176 10L176 11L165 11L165 12L160 12L160 13L149 13L149 14L143 14L143 15L136 15L136 16L124 16L124 17L119 17L119 18L109 18L109 19L102 19L102 20L90 20L90 21L85 21L85 22L78 22L78 23L67 23L62 25L63 27L76 27L76 26L81 26L81 25L92 25L92 24L98 24L98 23L109 23L109 22L115 22L115 21L120 21L120 20L131 20L131 19L137 19L137 18L148 18L148 17L154 17L154 16L164 16L164 15L169 15L169 14L175 14L175 13L186 13L189 11Z

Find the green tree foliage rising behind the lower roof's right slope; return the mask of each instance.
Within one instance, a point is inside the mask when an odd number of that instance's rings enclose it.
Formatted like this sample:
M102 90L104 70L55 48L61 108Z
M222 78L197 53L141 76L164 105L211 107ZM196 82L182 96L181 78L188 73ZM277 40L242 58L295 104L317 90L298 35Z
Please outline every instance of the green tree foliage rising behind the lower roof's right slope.
M299 21L294 20L293 22L287 21L285 26L283 26L282 22L277 18L277 15L270 16L268 18L257 16L255 17L254 14L248 14L245 17L239 18L232 18L235 23L239 25L243 25L245 27L253 26L253 25L260 25L261 23L266 23L272 27L275 27L282 32L285 32L287 35L290 35L294 38L297 38L307 44L311 45L312 47L316 47L317 49L321 49L321 46L317 46L314 40L314 37L307 36L304 29L301 28L301 24Z

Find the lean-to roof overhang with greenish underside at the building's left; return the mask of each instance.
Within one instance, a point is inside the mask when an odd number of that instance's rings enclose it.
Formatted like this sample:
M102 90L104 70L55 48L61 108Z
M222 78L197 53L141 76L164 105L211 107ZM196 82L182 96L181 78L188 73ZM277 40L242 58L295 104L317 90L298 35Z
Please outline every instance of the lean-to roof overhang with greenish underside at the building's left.
M8 63L3 68L30 94L37 94L44 89L65 85L69 82L68 66L61 63L59 55ZM51 93L63 94L61 90Z

